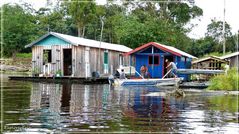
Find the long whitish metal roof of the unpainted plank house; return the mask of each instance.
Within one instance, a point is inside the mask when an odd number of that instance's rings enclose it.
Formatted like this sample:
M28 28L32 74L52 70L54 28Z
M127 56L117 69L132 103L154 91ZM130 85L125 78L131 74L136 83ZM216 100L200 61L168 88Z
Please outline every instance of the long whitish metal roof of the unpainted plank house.
M56 36L56 37L58 37L62 40L65 40L66 42L69 42L70 44L76 45L76 46L81 45L81 46L88 46L88 47L115 50L115 51L120 51L120 52L129 52L129 51L132 50L131 48L126 47L124 45L111 44L111 43L106 43L106 42L101 42L100 43L100 41L85 39L85 38L81 38L81 37L75 37L75 36L66 35L66 34L60 34L60 33L56 33L56 32L50 32L50 33L42 36L37 41L32 42L31 44L28 44L26 47L32 47L37 42L46 38L49 35Z

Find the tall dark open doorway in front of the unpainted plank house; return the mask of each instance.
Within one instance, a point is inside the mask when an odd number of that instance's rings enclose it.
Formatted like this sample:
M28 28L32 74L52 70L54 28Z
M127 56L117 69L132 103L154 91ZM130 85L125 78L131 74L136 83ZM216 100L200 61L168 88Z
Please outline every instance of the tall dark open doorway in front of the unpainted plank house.
M63 49L63 70L64 76L72 74L72 50Z

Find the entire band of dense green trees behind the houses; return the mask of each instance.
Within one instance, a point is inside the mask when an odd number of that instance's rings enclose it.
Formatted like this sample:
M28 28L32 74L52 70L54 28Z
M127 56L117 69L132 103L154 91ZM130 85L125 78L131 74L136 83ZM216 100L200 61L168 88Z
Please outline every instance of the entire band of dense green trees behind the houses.
M48 0L50 2L51 0ZM165 2L164 2L165 1ZM184 2L114 0L97 5L94 0L57 1L54 7L35 10L29 4L5 4L3 9L3 55L15 56L29 52L24 46L48 31L123 44L136 48L148 42L159 42L184 50L195 56L222 52L222 22L212 20L205 38L191 39L186 28L192 19L203 11L196 5ZM191 2L191 1L189 1ZM226 50L235 51L236 35L226 23Z

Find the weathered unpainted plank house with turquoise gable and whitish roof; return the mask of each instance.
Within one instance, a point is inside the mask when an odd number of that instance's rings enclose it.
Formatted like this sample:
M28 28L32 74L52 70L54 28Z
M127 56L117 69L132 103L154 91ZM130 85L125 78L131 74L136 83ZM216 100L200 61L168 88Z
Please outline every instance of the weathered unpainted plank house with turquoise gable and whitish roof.
M91 77L92 72L112 74L129 63L123 57L132 49L70 35L49 32L26 47L32 48L32 68L44 75Z

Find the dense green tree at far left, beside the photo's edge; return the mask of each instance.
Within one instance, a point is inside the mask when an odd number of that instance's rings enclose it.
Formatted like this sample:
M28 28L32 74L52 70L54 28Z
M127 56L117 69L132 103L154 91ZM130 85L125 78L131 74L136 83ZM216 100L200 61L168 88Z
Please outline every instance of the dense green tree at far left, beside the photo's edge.
M3 8L3 55L16 56L24 46L36 39L35 18L29 10L17 4L5 4ZM29 7L28 7L29 8Z

